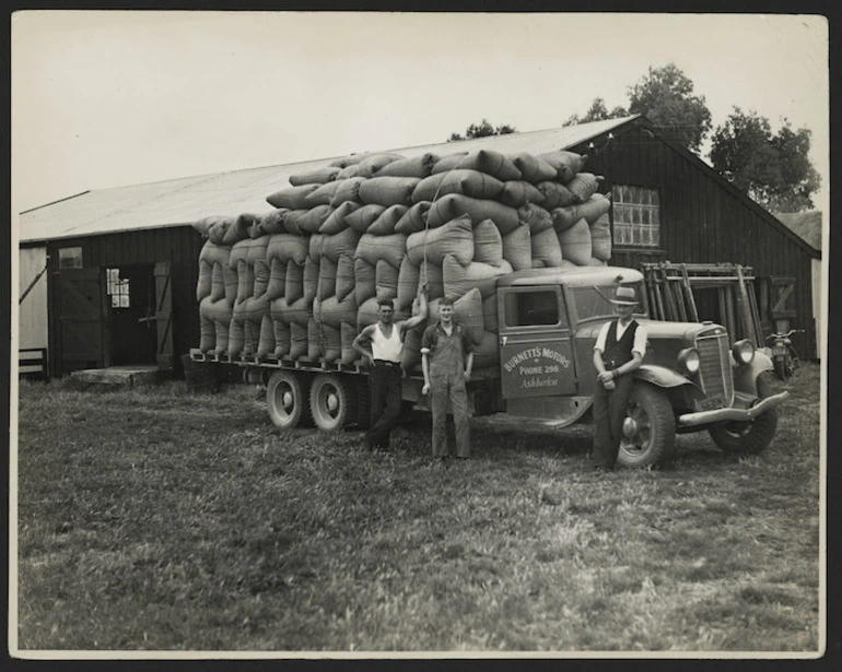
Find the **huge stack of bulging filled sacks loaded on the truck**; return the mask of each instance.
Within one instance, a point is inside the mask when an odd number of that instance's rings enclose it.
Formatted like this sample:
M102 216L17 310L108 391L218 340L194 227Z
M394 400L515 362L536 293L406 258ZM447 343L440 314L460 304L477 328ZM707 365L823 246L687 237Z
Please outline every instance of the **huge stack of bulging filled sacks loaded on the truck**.
M377 319L377 299L394 299L395 319L406 319L425 283L428 325L451 296L476 365L490 365L501 275L610 258L610 200L597 193L599 178L582 172L586 158L353 155L290 177L267 197L272 212L203 220L196 225L209 237L197 286L202 350L350 364L353 339ZM420 362L424 327L407 334L406 368Z

